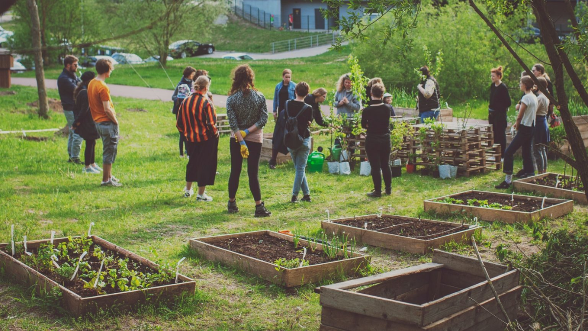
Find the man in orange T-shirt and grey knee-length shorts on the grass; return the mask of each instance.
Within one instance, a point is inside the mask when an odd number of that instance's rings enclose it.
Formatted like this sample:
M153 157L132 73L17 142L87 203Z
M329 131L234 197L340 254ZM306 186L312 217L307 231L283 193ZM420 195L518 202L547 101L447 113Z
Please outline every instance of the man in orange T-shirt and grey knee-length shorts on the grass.
M112 176L112 164L118 151L118 120L106 78L111 76L113 67L109 59L96 61L98 76L88 84L88 103L92 118L96 123L96 131L102 138L102 186L122 186Z

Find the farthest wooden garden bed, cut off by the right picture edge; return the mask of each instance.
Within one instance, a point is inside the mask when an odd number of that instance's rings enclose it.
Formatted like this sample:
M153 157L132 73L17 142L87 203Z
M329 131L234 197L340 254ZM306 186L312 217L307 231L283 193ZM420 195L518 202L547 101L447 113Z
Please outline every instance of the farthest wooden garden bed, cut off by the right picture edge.
M572 199L582 204L588 204L582 181L576 184L575 178L571 176L564 177L561 174L544 173L515 180L513 184L517 191L532 191L545 196Z

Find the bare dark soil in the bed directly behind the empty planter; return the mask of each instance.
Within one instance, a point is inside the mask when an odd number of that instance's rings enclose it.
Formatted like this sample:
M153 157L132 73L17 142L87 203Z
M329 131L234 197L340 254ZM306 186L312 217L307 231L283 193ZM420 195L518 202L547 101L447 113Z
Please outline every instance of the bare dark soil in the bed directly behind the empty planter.
M433 223L423 220L412 221L390 216L374 216L371 219L345 220L335 223L359 227L361 229L366 229L365 226L367 223L368 230L396 234L397 236L403 237L420 237L425 240L447 236L447 234L469 229L469 226L454 226L453 224Z

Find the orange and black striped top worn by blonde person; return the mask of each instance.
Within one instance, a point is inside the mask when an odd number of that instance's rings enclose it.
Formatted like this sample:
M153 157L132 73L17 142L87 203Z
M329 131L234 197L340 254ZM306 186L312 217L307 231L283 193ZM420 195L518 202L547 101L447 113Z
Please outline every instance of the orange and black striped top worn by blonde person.
M216 110L212 102L196 92L185 98L178 111L178 131L191 143L216 137Z

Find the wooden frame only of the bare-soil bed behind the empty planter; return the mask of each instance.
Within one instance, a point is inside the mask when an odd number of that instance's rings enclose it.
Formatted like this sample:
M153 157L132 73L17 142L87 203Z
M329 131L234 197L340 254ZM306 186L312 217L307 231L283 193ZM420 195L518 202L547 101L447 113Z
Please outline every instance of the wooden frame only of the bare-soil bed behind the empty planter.
M406 237L400 236L398 234L390 234L376 231L377 229L362 229L360 227L353 227L341 223L345 223L345 221L351 220L365 220L365 219L373 219L376 217L375 215L368 215L368 216L358 216L358 217L349 217L345 219L336 219L330 221L321 221L320 226L325 230L326 233L335 232L338 234L343 234L345 231L346 235L350 237L355 237L355 240L360 241L365 244L369 244L372 246L377 247L384 247L386 249L394 249L394 250L402 250L407 251L409 253L416 253L416 254L426 254L430 249L435 249L445 243L449 243L450 241L456 241L457 243L462 242L470 242L472 239L472 235L477 229L482 231L482 227L480 226L473 226L465 224L463 227L465 229L458 229L457 232L447 231L447 234L441 234L440 236L425 236L422 238L415 238L415 237ZM442 224L443 226L449 226L451 228L455 227L462 227L462 224L459 223L449 223L443 221L434 221L434 220L422 220L416 219L414 217L404 217L404 216L395 216L395 215L386 215L383 214L382 217L393 217L395 219L403 220L398 226L402 227L403 223L410 223L410 222L426 222L426 223L435 223L435 224Z

